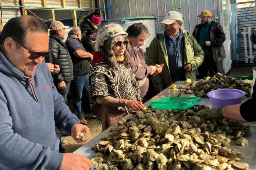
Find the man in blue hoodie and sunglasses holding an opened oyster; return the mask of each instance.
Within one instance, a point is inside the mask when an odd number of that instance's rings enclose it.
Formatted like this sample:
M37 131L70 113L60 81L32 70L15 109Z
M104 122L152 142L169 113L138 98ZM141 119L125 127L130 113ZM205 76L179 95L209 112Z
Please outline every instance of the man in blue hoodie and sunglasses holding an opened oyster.
M48 29L33 16L10 19L0 44L0 169L69 170L92 167L79 155L58 152L55 126L81 143L87 126L71 114L43 62L49 54ZM79 132L87 137L77 139Z

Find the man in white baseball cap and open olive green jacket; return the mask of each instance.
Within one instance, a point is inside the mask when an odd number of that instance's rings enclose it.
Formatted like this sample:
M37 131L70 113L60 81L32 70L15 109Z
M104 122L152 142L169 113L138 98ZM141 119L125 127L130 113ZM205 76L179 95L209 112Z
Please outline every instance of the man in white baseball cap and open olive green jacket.
M160 74L152 77L157 93L179 80L196 80L196 69L203 62L203 50L193 35L182 29L182 15L176 11L166 14L164 31L157 34L149 46L147 64L164 63Z

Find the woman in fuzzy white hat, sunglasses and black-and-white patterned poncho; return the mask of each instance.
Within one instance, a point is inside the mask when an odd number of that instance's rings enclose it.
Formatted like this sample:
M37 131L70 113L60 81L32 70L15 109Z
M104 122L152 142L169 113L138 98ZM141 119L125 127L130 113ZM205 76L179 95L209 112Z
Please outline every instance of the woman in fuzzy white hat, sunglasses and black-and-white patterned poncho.
M135 75L131 74L127 33L118 24L99 30L93 53L90 81L92 112L102 122L102 130L132 111L143 110Z

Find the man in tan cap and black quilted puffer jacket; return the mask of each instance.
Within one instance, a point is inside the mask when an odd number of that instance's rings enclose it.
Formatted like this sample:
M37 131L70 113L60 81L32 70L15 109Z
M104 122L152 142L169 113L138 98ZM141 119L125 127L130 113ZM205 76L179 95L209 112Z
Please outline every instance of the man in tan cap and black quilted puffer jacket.
M63 96L67 104L67 95L73 80L73 64L68 49L63 41L65 37L65 28L60 21L53 21L50 25L49 45L52 48L53 55L60 61L61 75L54 82L58 92Z

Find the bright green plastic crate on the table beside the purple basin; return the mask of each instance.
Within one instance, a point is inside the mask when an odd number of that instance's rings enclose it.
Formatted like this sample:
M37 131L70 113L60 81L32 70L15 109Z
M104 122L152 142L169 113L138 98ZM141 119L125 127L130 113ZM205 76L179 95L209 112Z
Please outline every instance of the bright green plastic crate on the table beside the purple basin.
M201 97L165 97L163 99L150 101L154 109L185 110L201 101Z

